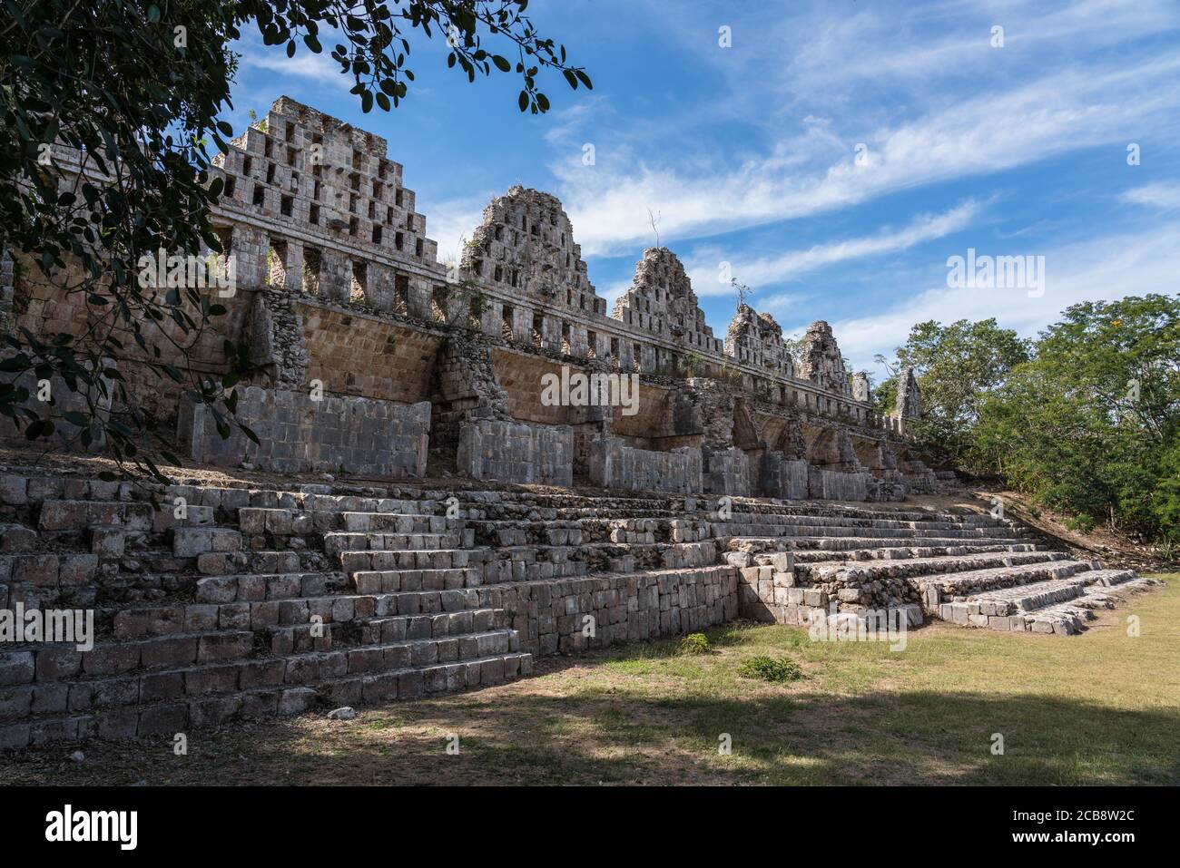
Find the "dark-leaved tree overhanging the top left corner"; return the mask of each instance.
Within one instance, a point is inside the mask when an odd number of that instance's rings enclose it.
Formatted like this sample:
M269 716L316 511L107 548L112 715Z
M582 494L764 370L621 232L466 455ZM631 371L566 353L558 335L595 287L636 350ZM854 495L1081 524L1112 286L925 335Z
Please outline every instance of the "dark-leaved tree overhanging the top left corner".
M37 278L81 300L79 333L32 334L5 328L0 413L31 440L54 423L25 407L30 379L60 377L85 400L66 422L86 445L105 440L120 467L163 479L153 454L173 463L169 433L129 400L116 364L135 359L186 387L230 433L240 374L202 376L171 364L162 347L186 349L224 314L195 288L165 294L137 282L144 254L197 255L221 245L209 221L222 185L211 147L225 151L234 131L218 116L231 107L237 58L229 46L257 27L287 57L320 53L321 38L354 83L368 112L388 111L414 81L414 41L442 35L447 66L468 81L514 73L520 111L545 112L543 70L570 87L590 87L565 48L542 37L527 0L4 0L0 24L0 250L28 256ZM512 57L493 53L503 46ZM60 147L54 149L57 144ZM70 165L63 153L78 158ZM25 278L34 275L25 274ZM241 355L227 343L228 357ZM20 377L20 379L18 379ZM113 396L116 412L100 405ZM244 428L243 428L244 429ZM253 436L253 433L247 430Z

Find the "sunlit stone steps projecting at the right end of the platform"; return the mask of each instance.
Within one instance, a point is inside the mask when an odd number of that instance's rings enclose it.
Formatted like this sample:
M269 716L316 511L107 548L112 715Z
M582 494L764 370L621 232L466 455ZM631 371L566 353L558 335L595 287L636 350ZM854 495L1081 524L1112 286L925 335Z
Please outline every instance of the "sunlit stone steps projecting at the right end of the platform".
M719 535L734 534L725 557L741 570L746 617L802 625L820 614L864 622L900 610L911 626L939 618L1073 634L1094 610L1159 584L1075 560L1028 528L985 514L779 512L734 513L716 527Z

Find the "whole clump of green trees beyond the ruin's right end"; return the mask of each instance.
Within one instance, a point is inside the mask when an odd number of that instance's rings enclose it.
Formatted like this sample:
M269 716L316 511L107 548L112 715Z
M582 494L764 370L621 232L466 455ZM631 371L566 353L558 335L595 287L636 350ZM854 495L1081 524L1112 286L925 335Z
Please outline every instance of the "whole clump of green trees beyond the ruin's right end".
M1180 297L1075 304L1030 343L992 320L920 323L902 364L914 366L931 453L1076 515L1077 530L1180 532Z

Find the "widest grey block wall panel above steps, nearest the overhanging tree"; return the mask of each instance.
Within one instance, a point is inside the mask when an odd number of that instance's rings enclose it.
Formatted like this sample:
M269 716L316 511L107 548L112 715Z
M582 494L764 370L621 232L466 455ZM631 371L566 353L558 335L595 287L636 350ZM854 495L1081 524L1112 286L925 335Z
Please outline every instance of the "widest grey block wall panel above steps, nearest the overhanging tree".
M249 387L237 417L258 436L234 429L222 440L203 405L181 406L177 440L195 461L222 467L243 463L280 473L308 471L382 476L421 476L431 428L431 405L396 405L367 397Z

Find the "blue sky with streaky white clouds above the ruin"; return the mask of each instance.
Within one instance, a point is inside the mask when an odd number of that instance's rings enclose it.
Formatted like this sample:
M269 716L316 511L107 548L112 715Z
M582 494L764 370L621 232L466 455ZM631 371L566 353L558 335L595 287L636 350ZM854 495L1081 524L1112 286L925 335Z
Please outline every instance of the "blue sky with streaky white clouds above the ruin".
M467 84L435 40L414 48L405 104L365 116L326 55L248 37L228 119L288 94L385 136L440 258L492 196L552 192L611 302L655 241L650 209L716 334L729 263L786 333L827 320L874 376L922 320L995 316L1031 336L1079 301L1180 290L1176 0L535 0L530 14L595 85L551 78L548 114L517 110L513 75ZM950 287L948 257L969 248L1044 256L1045 291Z

